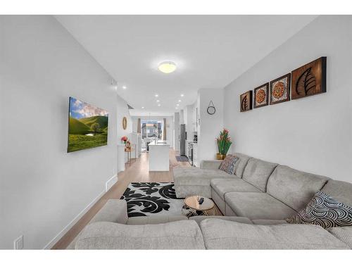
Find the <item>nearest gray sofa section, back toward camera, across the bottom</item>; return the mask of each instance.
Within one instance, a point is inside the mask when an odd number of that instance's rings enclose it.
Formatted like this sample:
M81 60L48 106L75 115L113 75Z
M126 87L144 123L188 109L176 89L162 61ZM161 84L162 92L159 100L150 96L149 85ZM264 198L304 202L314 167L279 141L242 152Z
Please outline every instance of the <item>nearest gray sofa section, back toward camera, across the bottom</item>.
M68 249L352 249L352 228L237 216L127 218L127 203L109 200Z

